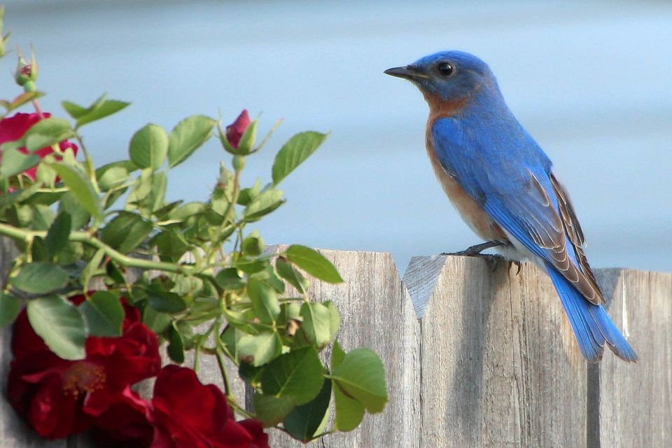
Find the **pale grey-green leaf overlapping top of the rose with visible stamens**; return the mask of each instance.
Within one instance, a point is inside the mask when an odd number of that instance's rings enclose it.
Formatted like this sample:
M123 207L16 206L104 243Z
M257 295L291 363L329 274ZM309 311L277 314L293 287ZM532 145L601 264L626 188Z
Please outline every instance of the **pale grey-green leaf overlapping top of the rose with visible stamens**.
M60 358L78 360L85 357L84 318L63 297L50 295L28 302L28 320L49 349Z

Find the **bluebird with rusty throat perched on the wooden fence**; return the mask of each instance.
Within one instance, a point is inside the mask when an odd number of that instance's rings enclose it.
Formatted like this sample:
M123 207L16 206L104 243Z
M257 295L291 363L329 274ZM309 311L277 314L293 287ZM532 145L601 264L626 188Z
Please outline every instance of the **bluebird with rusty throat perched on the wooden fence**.
M608 346L637 355L605 309L584 253L585 237L569 194L542 148L505 103L488 64L451 50L385 74L419 87L429 106L426 147L437 179L484 244L509 260L531 260L548 273L577 343L589 362Z

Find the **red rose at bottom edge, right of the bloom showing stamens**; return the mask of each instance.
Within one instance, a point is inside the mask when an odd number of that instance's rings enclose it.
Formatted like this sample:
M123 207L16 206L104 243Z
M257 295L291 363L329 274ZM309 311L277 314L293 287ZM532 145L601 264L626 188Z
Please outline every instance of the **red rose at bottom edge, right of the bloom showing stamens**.
M235 421L222 391L186 367L162 368L147 409L152 448L268 448L260 421Z

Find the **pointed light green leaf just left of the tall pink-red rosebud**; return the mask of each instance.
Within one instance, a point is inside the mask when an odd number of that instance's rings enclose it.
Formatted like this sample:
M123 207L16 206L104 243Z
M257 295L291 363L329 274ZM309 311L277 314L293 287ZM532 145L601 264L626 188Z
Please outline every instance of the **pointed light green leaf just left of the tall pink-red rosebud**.
M181 164L210 138L216 121L195 115L185 118L174 127L168 143L169 167Z

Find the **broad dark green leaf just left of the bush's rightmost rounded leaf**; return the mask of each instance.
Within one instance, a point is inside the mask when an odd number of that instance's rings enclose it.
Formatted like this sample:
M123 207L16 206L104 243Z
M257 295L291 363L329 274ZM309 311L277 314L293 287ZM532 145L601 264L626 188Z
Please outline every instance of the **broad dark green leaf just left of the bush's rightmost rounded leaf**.
M295 405L309 402L320 392L324 367L313 347L285 353L269 363L261 377L265 395L289 397Z

